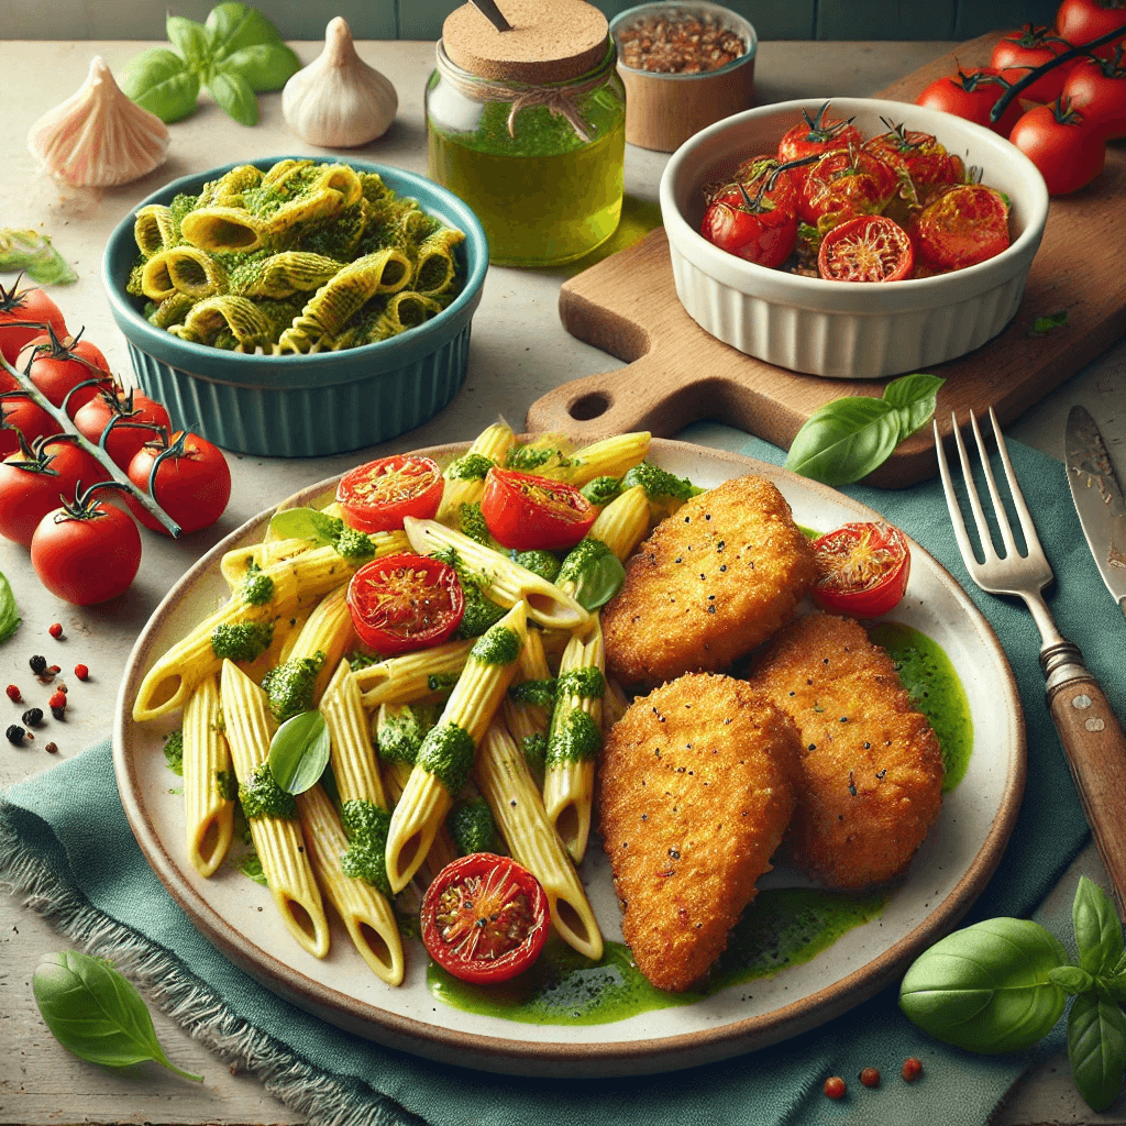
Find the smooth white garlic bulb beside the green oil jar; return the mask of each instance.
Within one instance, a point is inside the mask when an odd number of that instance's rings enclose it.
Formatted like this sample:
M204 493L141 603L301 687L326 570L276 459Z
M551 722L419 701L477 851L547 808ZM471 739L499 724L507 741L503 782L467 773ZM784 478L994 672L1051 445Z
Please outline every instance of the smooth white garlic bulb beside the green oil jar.
M324 32L324 50L282 91L282 116L303 141L354 149L391 126L399 108L395 88L368 66L340 16Z

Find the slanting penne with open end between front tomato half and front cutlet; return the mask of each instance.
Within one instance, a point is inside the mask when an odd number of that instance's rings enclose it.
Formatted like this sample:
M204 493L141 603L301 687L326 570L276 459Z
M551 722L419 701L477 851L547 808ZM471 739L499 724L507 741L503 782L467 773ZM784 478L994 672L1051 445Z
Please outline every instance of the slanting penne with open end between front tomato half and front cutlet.
M524 756L497 720L481 744L475 774L512 859L524 865L547 893L552 923L560 937L597 960L602 956L602 935L587 893L547 820Z

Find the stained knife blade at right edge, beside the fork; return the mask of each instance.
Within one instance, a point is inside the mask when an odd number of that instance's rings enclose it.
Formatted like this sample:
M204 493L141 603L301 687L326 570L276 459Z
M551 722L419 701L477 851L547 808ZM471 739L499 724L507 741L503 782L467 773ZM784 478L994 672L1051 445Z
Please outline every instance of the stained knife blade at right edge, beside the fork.
M1126 614L1126 500L1099 428L1084 406L1067 415L1067 483L1107 590Z

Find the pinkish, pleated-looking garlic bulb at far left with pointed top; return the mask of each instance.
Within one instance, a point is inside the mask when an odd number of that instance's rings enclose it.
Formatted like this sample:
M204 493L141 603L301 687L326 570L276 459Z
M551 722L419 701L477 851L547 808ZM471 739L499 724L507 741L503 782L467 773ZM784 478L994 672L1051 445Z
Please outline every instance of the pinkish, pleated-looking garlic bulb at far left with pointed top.
M127 184L168 152L164 123L122 93L100 55L86 83L45 113L27 134L27 148L44 170L75 186Z

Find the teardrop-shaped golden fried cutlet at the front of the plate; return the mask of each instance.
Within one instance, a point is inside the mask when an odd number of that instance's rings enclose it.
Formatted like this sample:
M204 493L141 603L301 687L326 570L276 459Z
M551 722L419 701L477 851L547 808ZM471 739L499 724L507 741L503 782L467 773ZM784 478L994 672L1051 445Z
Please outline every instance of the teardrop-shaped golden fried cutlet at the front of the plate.
M602 745L597 806L641 972L682 992L727 945L797 801L797 729L745 681L688 673Z

